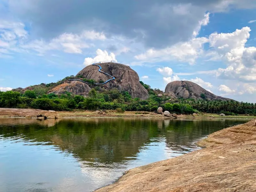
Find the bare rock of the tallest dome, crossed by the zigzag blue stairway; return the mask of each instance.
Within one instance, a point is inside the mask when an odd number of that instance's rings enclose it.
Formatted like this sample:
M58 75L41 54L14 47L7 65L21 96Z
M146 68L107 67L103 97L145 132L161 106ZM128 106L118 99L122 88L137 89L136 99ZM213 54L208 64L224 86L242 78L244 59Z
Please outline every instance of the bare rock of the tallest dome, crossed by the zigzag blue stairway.
M147 99L148 91L140 84L138 74L129 66L119 63L99 63L101 71L115 77L115 80L109 81L104 86L107 89L117 88L119 91L127 91L132 98ZM89 65L81 70L76 76L83 76L86 79L94 79L96 83L106 82L109 76L100 73L99 67Z

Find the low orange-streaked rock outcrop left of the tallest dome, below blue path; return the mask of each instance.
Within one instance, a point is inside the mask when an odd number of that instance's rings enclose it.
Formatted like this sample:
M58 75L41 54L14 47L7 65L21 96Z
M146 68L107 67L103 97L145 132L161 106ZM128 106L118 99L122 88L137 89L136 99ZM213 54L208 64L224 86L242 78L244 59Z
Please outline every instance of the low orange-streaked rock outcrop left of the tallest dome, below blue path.
M91 88L89 85L82 83L80 81L69 81L58 85L51 89L48 93L55 93L56 95L61 95L65 92L71 92L74 95L87 96Z

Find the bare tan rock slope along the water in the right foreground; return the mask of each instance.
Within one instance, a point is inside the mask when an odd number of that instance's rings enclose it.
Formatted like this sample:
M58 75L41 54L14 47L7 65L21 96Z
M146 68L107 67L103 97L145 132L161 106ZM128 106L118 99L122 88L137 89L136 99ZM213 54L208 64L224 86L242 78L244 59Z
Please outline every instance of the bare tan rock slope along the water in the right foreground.
M212 133L206 148L129 170L96 192L256 191L254 120Z

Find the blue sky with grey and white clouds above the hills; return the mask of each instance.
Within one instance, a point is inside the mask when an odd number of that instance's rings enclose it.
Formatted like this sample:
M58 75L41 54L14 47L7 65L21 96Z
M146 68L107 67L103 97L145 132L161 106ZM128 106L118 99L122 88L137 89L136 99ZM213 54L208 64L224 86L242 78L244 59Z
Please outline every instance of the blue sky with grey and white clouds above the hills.
M256 0L0 0L1 91L111 60L256 103Z

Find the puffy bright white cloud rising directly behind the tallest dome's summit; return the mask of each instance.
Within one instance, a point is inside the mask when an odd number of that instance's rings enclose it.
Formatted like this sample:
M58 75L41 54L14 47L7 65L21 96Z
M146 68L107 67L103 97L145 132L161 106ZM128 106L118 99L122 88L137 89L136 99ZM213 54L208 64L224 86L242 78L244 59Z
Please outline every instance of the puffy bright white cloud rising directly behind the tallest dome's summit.
M101 49L97 49L96 56L94 58L87 57L84 59L84 65L88 66L96 62L110 62L111 60L112 62L117 62L114 53L111 52L110 54L108 54L106 50L102 51Z

